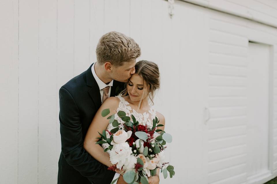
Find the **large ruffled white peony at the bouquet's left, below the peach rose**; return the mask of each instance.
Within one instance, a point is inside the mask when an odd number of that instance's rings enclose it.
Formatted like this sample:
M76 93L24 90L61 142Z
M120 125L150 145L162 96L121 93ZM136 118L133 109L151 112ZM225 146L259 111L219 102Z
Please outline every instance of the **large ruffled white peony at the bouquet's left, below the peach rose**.
M132 148L127 142L113 145L110 151L110 161L112 164L116 164L118 169L121 169L126 160L130 159L132 154Z

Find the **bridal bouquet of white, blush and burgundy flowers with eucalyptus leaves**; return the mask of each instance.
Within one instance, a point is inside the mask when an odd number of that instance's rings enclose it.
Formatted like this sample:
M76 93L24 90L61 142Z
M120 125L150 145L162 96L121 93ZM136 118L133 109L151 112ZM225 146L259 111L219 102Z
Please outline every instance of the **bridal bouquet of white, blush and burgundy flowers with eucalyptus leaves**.
M108 114L110 114L109 109L102 111L103 117ZM150 128L147 125L139 124L133 115L131 120L124 111L118 111L117 115L120 118L119 122L115 120L115 114L107 118L114 129L103 130L102 134L98 132L101 137L98 137L100 140L96 143L108 144L104 152L109 150L110 161L114 164L108 169L125 170L123 179L126 183L132 184L140 182L148 184L148 177L155 176L157 168L161 169L164 178L167 177L168 172L172 178L175 175L174 167L169 165L169 162L164 162L163 152L166 143L172 142L172 136L157 129L164 126L159 124L158 118L153 119L153 127ZM108 136L106 136L106 131ZM115 183L117 179L111 184Z

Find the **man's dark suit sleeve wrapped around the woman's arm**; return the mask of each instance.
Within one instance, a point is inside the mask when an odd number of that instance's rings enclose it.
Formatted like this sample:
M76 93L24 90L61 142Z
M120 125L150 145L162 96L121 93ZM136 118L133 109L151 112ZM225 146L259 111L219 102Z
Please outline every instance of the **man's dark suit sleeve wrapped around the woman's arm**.
M59 99L61 152L65 160L89 181L96 184L111 183L115 172L107 170L107 166L95 160L83 148L80 112L72 95L61 87Z

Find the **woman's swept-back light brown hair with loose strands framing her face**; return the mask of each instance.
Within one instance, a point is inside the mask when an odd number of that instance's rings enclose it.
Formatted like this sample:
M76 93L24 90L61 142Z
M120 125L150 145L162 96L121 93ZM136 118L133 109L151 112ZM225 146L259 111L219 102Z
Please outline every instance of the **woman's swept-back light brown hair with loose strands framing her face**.
M136 74L143 78L143 83L146 83L146 87L148 88L148 97L154 105L154 93L157 89L160 88L160 71L159 67L156 63L146 60L141 60L135 65ZM121 92L123 96L127 95L127 83L125 83L125 89ZM143 88L144 94L144 88ZM139 102L139 108L141 106L141 101L144 99L144 96L141 97Z

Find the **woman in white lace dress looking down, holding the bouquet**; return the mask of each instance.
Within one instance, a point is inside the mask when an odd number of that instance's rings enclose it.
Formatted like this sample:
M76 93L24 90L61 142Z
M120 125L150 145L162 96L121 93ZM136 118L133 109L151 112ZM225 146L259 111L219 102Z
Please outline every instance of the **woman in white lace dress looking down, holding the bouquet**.
M155 116L160 120L160 124L165 124L164 116L151 107L154 104L154 92L160 87L160 72L157 64L142 60L136 63L135 70L135 74L131 76L125 85L126 89L120 95L110 97L104 101L94 116L84 140L85 150L96 160L108 167L113 164L110 161L108 152L104 152L103 149L107 145L103 144L101 147L99 144L96 144L98 141L96 137L99 137L98 132L106 129L111 131L114 127L112 124L109 124L109 120L106 117L102 117L102 110L110 109L111 113L108 116L115 114L116 120L119 120L116 114L119 110L126 112L126 116L131 117L131 114L133 114L140 124L147 124L150 128L153 127ZM151 105L149 105L150 102ZM164 126L160 127L160 129L164 130ZM108 136L107 131L106 135ZM122 170L116 172L121 173ZM148 180L150 184L159 183L159 170L157 170L156 176L149 177Z

